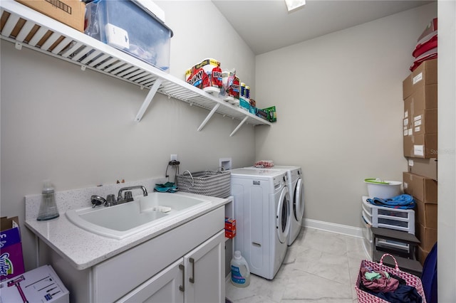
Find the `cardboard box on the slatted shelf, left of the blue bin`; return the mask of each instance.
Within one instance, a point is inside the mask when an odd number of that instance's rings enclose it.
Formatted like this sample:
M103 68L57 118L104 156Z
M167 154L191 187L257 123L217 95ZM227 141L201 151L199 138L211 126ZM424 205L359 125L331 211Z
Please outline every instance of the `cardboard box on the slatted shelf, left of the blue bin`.
M81 0L16 0L48 17L84 31L86 4Z

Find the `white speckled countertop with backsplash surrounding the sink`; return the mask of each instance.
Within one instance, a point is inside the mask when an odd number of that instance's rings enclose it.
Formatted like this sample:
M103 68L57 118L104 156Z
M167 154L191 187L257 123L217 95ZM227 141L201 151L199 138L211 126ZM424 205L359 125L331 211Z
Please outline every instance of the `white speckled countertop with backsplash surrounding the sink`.
M152 181L152 184L155 184L154 181ZM144 184L144 182L140 184ZM116 185L116 188L129 185L130 184L121 184L120 186ZM103 190L106 190L106 187L108 186L103 187ZM149 191L150 186L146 186L146 188ZM93 193L94 188L88 189L90 189L90 192L81 190L84 191L84 196L89 194L88 197L90 198L91 194L96 194ZM152 189L150 191L152 191ZM74 196L73 191L68 191L66 193L71 193L71 195ZM82 200L81 198L78 198L78 201L73 201L72 203L67 197L66 202L63 202L63 200L65 200L65 198L62 198L63 194L58 195L57 193L56 202L60 216L47 221L36 220L36 210L39 207L40 196L26 196L25 224L33 231L33 233L35 233L35 235L37 235L53 250L58 252L63 259L70 262L70 264L76 269L84 270L102 262L103 260L118 255L120 252L124 252L125 250L133 248L140 243L155 238L157 235L161 235L172 228L202 216L204 213L209 213L209 211L212 211L215 208L224 206L231 201L229 198L199 196L192 193L179 192L179 194L202 198L210 203L203 208L198 208L195 211L189 211L188 213L185 213L185 215L179 216L178 218L170 218L170 220L165 220L165 222L160 225L152 226L147 230L143 230L122 240L96 235L95 233L90 233L82 228L78 228L78 226L71 223L71 221L66 218L65 211L90 206L90 199L84 200L84 204L81 206L81 203L77 203Z

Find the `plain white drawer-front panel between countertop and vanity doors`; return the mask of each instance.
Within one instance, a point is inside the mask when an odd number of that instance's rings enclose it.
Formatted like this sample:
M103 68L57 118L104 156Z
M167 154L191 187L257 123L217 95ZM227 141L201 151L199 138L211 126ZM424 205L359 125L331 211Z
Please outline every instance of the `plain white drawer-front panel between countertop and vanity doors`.
M94 302L114 302L224 229L224 207L93 267Z

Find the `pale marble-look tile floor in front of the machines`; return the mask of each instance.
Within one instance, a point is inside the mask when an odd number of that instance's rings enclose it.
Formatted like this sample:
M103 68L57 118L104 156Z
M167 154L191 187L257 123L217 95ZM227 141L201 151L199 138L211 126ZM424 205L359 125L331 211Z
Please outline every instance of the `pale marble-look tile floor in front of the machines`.
M303 228L286 252L274 280L251 275L246 288L226 285L234 303L352 303L361 260L367 259L361 238Z

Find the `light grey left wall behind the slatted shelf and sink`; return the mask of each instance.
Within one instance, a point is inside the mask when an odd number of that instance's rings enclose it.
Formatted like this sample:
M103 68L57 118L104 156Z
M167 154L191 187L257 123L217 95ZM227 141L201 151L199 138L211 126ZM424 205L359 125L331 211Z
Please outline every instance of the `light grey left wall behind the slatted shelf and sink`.
M254 83L252 50L211 1L157 4L175 34L173 75L183 79L185 69L212 57ZM236 166L254 161L252 126L229 137L239 121L214 115L197 132L209 112L162 95L136 123L148 90L33 50L16 50L3 40L0 46L1 216L19 216L24 223L24 196L40 193L43 179L63 191L165 176L170 154L178 155L181 173L217 169L224 157ZM21 234L31 269L33 235L23 224Z

